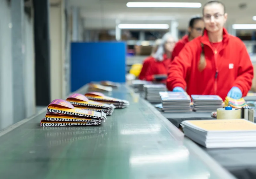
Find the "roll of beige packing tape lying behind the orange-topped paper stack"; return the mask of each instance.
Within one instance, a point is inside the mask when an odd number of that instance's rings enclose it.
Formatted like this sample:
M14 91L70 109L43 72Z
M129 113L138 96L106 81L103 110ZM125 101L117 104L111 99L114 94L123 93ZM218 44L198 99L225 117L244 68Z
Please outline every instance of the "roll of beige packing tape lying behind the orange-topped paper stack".
M217 109L217 119L241 119L241 110L232 109L225 110L225 108Z

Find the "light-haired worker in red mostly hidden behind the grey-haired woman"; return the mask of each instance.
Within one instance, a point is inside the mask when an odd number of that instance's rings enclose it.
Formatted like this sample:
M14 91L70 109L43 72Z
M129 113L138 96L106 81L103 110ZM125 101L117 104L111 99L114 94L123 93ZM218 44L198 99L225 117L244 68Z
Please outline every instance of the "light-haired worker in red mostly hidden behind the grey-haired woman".
M162 39L157 39L153 48L152 48L152 52L151 55L149 57L147 57L144 61L143 61L143 65L142 65L142 69L140 71L140 75L139 75L139 79L140 80L146 80L146 72L148 70L148 67L150 66L150 63L152 61L155 60L155 58L153 57L159 47L159 45L161 44Z

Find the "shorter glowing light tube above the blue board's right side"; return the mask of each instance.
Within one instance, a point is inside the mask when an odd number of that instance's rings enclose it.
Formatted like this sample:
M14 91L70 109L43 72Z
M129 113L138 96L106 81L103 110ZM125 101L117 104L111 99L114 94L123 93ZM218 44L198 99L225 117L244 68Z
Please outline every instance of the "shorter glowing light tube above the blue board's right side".
M126 29L168 29L168 24L119 24L119 28Z

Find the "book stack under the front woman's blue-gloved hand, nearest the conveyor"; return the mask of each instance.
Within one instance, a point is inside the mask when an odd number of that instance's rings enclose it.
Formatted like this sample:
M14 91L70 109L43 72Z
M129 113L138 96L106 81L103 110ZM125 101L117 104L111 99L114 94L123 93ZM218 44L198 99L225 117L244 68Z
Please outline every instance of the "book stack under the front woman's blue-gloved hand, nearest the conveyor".
M186 92L159 92L164 112L189 112L191 99Z

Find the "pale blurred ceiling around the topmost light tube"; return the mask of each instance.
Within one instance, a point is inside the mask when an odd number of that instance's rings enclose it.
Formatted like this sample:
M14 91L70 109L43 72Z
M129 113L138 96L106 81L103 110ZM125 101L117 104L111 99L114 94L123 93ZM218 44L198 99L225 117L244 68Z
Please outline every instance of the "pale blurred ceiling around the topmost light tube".
M179 29L186 29L188 20L202 14L201 8L129 8L127 2L196 2L207 0L69 0L70 6L78 6L87 29L114 29L116 19L121 23L170 23L177 19ZM255 0L222 0L226 5L229 24L255 24Z

